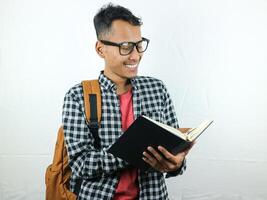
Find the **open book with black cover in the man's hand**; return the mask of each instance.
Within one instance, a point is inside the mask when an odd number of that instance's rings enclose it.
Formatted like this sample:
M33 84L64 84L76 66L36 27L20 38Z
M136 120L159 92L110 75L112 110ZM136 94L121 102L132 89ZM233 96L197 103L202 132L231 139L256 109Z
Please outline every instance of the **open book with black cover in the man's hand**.
M148 146L157 149L163 146L172 154L177 154L191 146L191 143L212 123L205 120L195 128L175 129L146 116L139 116L131 126L108 149L134 167L147 170L150 166L143 161L143 152Z

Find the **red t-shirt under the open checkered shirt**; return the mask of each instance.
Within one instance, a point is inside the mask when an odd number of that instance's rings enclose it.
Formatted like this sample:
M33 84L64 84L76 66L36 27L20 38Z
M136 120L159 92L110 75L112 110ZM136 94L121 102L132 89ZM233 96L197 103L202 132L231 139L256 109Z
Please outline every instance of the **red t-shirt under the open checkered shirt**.
M122 130L125 131L134 121L132 90L120 97ZM115 192L114 200L138 199L139 187L137 183L137 169L131 168L122 171Z

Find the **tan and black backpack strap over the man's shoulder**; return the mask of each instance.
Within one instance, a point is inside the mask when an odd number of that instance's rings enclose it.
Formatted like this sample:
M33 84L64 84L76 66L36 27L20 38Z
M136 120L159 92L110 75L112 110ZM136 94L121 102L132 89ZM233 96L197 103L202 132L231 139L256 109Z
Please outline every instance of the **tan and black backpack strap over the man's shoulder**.
M98 80L82 81L84 107L89 129L93 134L94 147L100 149L98 127L101 121L101 90Z

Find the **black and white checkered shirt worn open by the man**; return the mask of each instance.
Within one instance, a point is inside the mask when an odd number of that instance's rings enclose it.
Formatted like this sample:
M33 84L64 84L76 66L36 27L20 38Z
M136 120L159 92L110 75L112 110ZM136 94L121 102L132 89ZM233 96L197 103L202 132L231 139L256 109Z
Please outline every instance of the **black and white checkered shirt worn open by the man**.
M120 171L129 164L107 153L107 149L123 133L119 98L116 85L103 72L99 76L102 92L102 119L99 127L101 150L93 146L94 138L90 133L85 117L83 91L81 84L72 87L66 94L63 106L63 128L69 165L72 170L70 188L82 178L79 199L112 199ZM175 128L178 127L170 96L160 80L138 76L131 80L133 86L133 109L135 118L146 115ZM185 163L168 176L182 174ZM138 171L140 200L168 199L164 175L160 172Z

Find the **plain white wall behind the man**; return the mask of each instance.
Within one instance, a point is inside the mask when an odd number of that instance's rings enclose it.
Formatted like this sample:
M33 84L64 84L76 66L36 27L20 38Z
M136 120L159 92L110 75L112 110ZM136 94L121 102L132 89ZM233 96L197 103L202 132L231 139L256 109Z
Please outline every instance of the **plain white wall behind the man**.
M0 200L44 199L66 91L97 78L106 1L0 0ZM181 127L213 125L168 179L174 200L267 199L267 1L115 1L151 40L140 74L167 85Z

